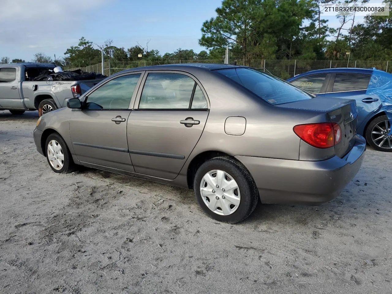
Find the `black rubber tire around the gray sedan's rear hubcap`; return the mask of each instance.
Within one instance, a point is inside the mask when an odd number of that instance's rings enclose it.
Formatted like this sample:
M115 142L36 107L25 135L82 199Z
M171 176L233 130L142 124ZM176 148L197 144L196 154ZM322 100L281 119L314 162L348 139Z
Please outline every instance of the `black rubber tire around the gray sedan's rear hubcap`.
M205 174L214 170L221 170L229 174L236 181L240 190L240 203L231 214L220 215L213 212L207 207L201 196L201 181ZM241 162L229 156L215 157L203 163L196 172L193 189L201 209L211 218L226 223L238 223L245 220L254 211L259 199L259 192L250 172ZM216 192L216 195L218 195L218 192Z

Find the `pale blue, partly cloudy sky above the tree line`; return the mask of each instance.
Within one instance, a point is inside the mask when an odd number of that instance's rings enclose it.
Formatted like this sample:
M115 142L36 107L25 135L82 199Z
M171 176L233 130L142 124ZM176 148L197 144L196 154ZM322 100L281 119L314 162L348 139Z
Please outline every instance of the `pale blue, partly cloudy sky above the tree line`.
M198 44L203 22L221 0L0 0L0 57L31 61L38 52L54 58L84 36L125 49L148 40L161 54ZM371 1L373 2L373 1ZM337 25L334 16L325 17ZM358 18L356 22L361 22Z

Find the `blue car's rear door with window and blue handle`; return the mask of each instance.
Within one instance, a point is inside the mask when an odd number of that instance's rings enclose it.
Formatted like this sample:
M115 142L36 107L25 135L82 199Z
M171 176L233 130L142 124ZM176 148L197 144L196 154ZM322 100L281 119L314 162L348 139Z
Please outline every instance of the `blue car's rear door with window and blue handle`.
M325 97L354 99L358 108L358 127L381 106L377 95L366 95L370 74L333 73Z

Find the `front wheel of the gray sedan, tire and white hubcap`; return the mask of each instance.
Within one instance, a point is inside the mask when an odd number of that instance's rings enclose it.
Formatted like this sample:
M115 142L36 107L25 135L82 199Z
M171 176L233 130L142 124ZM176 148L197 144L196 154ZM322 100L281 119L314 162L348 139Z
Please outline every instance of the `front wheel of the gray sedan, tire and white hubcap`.
M66 174L75 170L71 153L59 134L50 134L45 146L47 161L54 172Z

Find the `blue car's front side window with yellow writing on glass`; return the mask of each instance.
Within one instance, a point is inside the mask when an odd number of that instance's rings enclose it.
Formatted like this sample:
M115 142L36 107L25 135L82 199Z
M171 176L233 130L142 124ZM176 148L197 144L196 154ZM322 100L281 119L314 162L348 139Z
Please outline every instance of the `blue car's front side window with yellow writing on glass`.
M292 85L316 96L323 96L331 74L309 74L290 82Z

